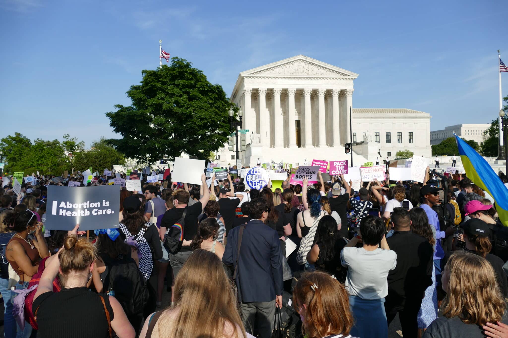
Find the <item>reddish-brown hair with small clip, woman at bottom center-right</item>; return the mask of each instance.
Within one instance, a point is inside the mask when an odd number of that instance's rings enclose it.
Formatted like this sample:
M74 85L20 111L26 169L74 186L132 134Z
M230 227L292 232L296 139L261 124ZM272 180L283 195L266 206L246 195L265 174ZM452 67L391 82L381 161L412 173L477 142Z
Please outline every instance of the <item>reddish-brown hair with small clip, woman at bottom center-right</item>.
M293 290L293 302L306 337L353 338L349 335L353 314L348 294L333 275L304 273Z

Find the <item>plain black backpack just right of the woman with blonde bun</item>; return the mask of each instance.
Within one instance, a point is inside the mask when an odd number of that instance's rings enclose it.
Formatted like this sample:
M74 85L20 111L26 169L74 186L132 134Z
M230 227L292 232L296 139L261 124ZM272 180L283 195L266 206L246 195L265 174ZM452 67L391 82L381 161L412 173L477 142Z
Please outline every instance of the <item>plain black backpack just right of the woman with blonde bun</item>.
M136 261L132 257L112 259L102 255L109 272L103 281L106 292L113 291L113 295L121 304L125 315L131 316L143 313L148 303L148 288L146 279L139 271Z

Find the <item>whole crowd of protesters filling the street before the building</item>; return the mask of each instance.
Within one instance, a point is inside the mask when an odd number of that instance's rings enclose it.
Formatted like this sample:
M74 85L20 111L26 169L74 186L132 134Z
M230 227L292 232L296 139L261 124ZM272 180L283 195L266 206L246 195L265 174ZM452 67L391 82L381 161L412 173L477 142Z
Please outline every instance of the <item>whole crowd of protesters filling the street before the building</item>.
M0 187L6 337L383 338L397 314L404 337L508 337L508 232L465 174L145 179L86 235L45 229L47 186L112 177L56 178Z

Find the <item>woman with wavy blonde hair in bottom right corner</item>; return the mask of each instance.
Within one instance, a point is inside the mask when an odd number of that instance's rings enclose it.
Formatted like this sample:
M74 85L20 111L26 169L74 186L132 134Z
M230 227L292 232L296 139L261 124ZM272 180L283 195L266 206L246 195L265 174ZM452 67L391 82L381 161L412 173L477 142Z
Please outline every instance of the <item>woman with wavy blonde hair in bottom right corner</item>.
M440 306L441 317L430 324L423 338L480 338L485 336L482 326L488 322L508 324L506 303L496 279L485 258L455 251L442 271L447 295Z

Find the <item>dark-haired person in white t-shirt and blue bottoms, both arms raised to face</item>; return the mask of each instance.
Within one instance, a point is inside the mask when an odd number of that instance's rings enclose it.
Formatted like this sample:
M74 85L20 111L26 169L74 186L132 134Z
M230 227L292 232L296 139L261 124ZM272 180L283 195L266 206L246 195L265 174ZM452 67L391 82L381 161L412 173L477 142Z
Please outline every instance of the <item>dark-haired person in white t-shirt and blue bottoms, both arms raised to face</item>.
M397 254L386 241L385 222L367 216L360 223L360 233L340 252L347 267L344 283L350 294L350 307L355 318L351 334L359 337L388 338L385 297L388 295L388 272L397 266ZM355 247L362 240L361 248Z

